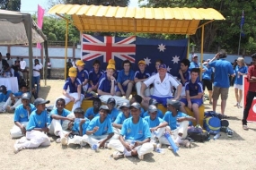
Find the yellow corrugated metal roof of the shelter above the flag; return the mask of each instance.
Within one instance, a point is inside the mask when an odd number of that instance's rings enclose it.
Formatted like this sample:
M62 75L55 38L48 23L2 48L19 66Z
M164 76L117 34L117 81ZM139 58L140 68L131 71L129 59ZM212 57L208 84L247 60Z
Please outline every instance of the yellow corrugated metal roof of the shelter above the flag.
M195 34L201 20L225 20L212 8L133 8L57 4L49 13L72 15L81 31Z

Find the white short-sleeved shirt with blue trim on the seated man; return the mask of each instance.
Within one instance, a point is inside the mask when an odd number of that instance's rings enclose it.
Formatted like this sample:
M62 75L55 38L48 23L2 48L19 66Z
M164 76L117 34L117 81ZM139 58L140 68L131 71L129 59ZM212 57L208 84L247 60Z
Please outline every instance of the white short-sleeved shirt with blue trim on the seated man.
M181 82L177 81L171 74L166 73L163 81L161 82L159 73L156 73L144 81L146 87L154 84L154 93L155 97L172 97L172 86L177 88Z

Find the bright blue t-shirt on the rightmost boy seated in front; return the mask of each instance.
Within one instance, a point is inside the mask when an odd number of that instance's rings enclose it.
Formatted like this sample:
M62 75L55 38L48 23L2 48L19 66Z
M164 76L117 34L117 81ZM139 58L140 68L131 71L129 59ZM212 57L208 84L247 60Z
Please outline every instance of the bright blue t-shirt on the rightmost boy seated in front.
M178 114L173 117L172 112L167 111L163 116L163 121L167 122L168 125L171 127L171 130L173 131L177 128L177 125L179 126L179 123L177 122L177 118L179 117L190 117L190 116L179 111Z

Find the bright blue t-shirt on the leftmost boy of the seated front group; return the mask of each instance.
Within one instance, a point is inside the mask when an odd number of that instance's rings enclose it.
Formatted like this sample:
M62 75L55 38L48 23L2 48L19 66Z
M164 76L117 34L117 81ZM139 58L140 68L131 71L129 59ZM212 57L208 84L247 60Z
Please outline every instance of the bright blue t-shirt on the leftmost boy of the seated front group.
M31 112L36 110L36 107L34 105L30 104L30 107L31 107ZM19 123L29 122L28 111L23 107L23 105L19 105L15 108L13 120L14 122L19 122Z

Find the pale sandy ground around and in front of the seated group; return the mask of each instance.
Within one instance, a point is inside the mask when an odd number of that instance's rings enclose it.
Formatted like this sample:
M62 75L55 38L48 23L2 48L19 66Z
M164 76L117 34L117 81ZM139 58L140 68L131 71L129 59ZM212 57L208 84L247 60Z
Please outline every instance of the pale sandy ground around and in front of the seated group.
M61 94L64 81L41 81L40 96L53 104ZM241 118L242 108L234 107L234 89L230 88L226 106L226 115L234 137L227 138L225 133L218 140L205 143L192 143L191 149L181 148L178 154L164 149L164 153L151 153L145 160L128 157L115 160L111 156L114 150L102 149L96 153L89 147L73 145L62 147L50 137L51 146L39 149L24 149L13 153L13 144L9 131L13 126L13 114L0 115L0 169L256 169L255 131L256 123L249 123L250 130L244 132ZM206 104L207 110L211 106ZM220 112L220 106L217 106ZM213 137L212 137L213 138Z

